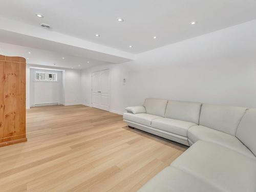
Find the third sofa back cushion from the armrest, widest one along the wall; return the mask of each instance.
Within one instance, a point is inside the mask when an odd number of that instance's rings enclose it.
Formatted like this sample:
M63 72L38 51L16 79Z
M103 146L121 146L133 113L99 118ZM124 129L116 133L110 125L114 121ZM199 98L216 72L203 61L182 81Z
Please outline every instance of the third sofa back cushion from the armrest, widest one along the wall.
M238 106L203 104L199 124L235 136L245 111Z

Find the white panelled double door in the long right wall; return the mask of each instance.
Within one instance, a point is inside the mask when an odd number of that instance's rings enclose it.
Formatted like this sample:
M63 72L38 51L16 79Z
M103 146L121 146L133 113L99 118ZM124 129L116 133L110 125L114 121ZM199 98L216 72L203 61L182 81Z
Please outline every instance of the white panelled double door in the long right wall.
M109 111L109 70L98 71L92 74L92 106L94 108Z

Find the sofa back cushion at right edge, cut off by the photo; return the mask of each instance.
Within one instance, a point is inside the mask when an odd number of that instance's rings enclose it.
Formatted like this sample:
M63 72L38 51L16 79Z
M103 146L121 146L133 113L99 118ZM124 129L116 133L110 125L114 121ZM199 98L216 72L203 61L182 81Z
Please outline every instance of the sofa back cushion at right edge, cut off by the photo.
M256 156L256 109L249 109L237 130L237 138Z

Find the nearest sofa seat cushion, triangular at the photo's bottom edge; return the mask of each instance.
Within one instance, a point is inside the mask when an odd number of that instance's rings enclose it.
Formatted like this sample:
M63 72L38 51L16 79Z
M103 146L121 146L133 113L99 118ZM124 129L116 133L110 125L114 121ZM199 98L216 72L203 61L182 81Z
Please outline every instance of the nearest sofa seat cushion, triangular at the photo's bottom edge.
M218 192L215 186L182 170L168 166L153 177L138 192Z

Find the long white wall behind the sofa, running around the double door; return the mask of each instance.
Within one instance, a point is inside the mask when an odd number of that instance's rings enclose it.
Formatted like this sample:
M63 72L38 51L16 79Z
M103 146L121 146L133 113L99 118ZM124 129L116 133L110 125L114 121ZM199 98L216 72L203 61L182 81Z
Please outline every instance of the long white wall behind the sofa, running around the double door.
M112 111L146 97L256 108L255 34L253 20L138 54L131 62L83 70L82 102L91 104L91 73L110 69Z

